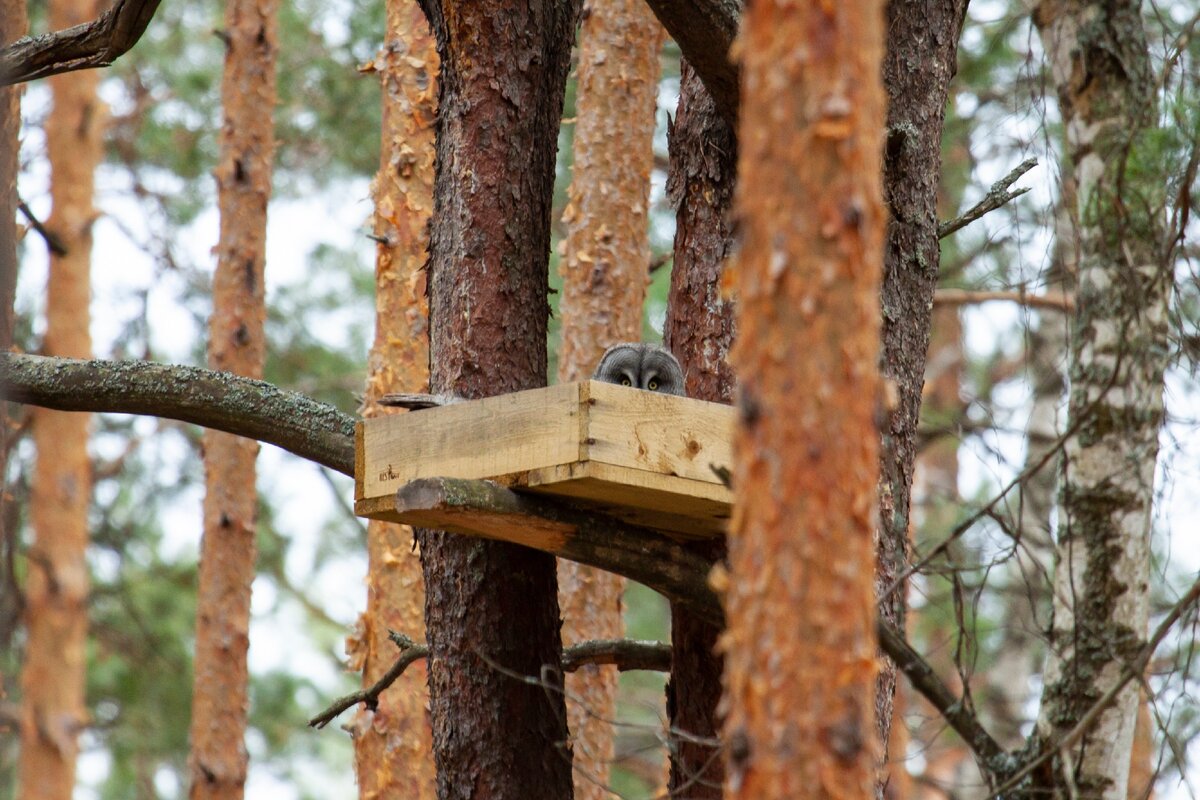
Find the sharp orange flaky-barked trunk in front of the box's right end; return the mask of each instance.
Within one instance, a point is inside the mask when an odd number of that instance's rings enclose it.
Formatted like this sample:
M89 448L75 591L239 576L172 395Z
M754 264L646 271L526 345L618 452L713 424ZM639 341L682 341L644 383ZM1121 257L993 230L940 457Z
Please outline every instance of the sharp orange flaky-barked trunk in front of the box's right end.
M733 798L875 787L883 17L882 2L776 0L743 20Z

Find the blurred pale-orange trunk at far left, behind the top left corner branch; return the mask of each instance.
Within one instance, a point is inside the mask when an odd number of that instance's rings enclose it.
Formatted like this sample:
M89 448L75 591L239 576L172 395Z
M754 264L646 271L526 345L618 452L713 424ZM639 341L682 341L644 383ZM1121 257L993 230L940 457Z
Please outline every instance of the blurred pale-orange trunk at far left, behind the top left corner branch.
M50 26L76 25L96 12L92 0L55 0ZM42 344L48 355L91 355L92 196L108 113L96 96L98 83L95 72L50 79L53 108L46 121L46 146L53 211L46 227L59 236L67 253L50 255ZM11 308L7 300L5 303ZM84 684L90 581L85 555L91 416L46 409L34 409L32 415L37 463L30 498L34 541L25 581L28 640L20 676L17 796L67 800L74 789L78 735L88 721Z

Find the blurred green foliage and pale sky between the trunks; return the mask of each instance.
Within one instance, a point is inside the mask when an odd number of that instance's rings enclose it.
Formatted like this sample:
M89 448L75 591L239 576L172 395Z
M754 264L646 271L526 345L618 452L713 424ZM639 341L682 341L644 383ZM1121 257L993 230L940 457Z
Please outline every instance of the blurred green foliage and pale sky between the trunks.
M360 73L379 46L379 2L312 2L280 8L277 152L266 258L268 357L265 379L354 414L372 339L373 255L368 184L378 168L378 83ZM1195 25L1188 4L1157 4L1145 19L1152 50L1172 53L1181 31ZM34 31L47 30L44 5L30 4ZM210 249L216 241L216 131L223 48L214 30L215 2L166 4L138 46L102 73L100 95L112 120L106 161L97 172L92 337L97 357L204 363L211 312ZM922 468L914 492L914 541L940 541L990 500L1025 467L1030 419L1044 399L1038 381L1066 359L1066 315L1052 303L1034 307L1022 293L1050 296L1061 131L1037 32L1015 4L974 2L964 26L959 72L952 84L943 137L942 207L952 218L1027 158L1030 192L942 241L935 345L928 371ZM1181 70L1195 78L1194 59ZM661 53L656 167L652 178L650 278L643 336L661 338L674 215L666 193L667 126L679 92L679 55ZM569 78L559 137L554 240L571 179L575 80ZM49 213L43 126L49 94L31 84L23 101L20 193L34 218ZM1194 114L1194 109L1192 110ZM17 348L37 353L44 331L44 242L22 242ZM1157 479L1156 608L1170 606L1200 565L1192 539L1200 521L1200 385L1196 314L1200 284L1192 253L1181 260L1176 288L1174 366L1168 374L1168 425ZM558 279L559 248L551 254ZM954 294L954 293L958 294ZM980 294L984 293L984 294ZM986 295L986 293L992 293ZM983 302L988 300L986 302ZM557 302L552 297L552 302ZM548 336L552 365L558 347ZM1042 366L1039 366L1042 365ZM1061 393L1061 387L1060 387ZM1043 392L1039 395L1039 392ZM1052 392L1051 392L1052 393ZM1062 397L1055 403L1063 409ZM1062 416L1058 416L1060 428ZM18 421L18 431L26 428ZM83 796L174 796L187 783L191 637L194 624L197 541L203 475L198 429L163 420L97 415L90 451L96 476L89 513L92 572L88 708L79 769ZM28 545L29 437L18 437L5 483L7 567L2 595L17 595ZM329 796L353 792L352 747L335 729L306 721L326 702L354 688L343 640L365 600L365 527L354 518L350 482L272 447L259 456L258 577L251 627L251 796ZM911 636L931 660L976 686L976 700L997 718L1018 710L1018 729L1033 714L1038 686L1030 667L1037 642L1014 643L1000 621L1012 613L1019 584L985 585L1001 570L1003 536L988 521L960 540L953 581L925 578L914 589ZM1016 587L1016 588L1014 588ZM0 603L0 690L18 698L22 634L11 602ZM632 638L665 640L666 603L630 584L626 626ZM959 631L970 636L959 637ZM1194 636L1182 632L1152 678L1156 756L1147 759L1168 796L1195 796L1189 748L1200 733L1190 657ZM1008 658L1008 662L1004 660ZM995 678L992 678L995 676ZM1024 676L1025 685L1014 680ZM995 682L992 682L995 681ZM1019 685L1016 697L1001 685ZM1189 691L1193 690L1193 691ZM1003 694L1003 697L1002 697ZM1012 694L1012 693L1009 693ZM613 784L642 796L661 777L658 739L662 679L622 678L622 728ZM991 705L989 705L991 704ZM916 703L908 709L908 771L928 790L970 788L970 759ZM14 738L0 742L0 788L13 784ZM944 754L943 751L949 752ZM953 764L947 771L944 764Z

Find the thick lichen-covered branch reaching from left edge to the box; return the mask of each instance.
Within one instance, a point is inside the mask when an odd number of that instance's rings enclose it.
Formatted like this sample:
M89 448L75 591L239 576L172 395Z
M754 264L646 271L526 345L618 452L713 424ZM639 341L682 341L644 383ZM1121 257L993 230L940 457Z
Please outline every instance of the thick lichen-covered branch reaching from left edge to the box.
M276 445L354 475L354 417L226 372L150 361L0 354L0 393L60 411L143 414Z

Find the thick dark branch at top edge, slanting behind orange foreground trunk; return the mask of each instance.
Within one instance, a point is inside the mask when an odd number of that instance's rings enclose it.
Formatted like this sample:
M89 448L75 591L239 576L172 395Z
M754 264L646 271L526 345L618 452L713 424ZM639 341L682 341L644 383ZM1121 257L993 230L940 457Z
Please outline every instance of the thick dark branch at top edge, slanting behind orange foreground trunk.
M740 0L647 0L679 46L725 121L738 121L738 67L730 47L742 20Z

